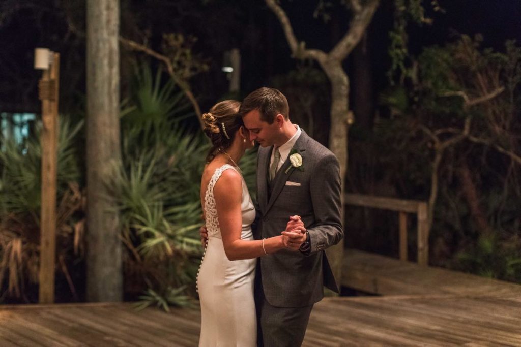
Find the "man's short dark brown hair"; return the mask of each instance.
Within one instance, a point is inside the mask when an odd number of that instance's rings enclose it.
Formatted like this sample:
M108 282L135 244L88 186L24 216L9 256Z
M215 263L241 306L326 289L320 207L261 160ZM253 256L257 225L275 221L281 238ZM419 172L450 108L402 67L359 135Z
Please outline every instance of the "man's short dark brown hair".
M261 120L268 124L273 123L277 114L282 114L284 119L288 120L290 107L288 99L278 89L262 87L251 92L242 101L239 114L241 116L246 113L259 110L261 112Z

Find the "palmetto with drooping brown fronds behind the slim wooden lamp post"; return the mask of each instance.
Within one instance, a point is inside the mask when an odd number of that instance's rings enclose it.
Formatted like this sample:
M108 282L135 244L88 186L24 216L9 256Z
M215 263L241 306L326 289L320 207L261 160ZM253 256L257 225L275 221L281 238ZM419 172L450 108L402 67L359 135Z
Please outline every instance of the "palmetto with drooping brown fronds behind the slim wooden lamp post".
M68 274L66 259L83 249L82 192L78 186L80 171L73 138L82 123L71 126L61 118L58 139L58 176L56 232L57 261ZM39 131L23 144L2 139L0 151L0 298L30 301L25 288L38 283L41 207L41 147ZM6 285L5 285L6 284ZM7 286L7 290L4 291Z

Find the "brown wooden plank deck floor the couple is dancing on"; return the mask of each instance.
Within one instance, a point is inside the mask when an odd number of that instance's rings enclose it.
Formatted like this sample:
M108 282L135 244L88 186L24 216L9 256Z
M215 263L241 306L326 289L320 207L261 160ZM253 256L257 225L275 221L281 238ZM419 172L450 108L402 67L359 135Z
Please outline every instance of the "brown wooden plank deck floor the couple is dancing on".
M196 346L199 310L121 304L0 306L0 346ZM304 346L521 346L521 298L326 298Z

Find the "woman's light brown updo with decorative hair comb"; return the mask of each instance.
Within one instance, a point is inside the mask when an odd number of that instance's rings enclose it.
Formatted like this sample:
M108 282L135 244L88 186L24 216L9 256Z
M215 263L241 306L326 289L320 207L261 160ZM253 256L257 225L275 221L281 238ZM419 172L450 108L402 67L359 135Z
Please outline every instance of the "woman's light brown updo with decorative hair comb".
M224 100L217 102L207 113L203 113L204 133L212 141L206 156L209 163L218 152L228 149L239 128L244 125L239 115L241 102L237 100Z

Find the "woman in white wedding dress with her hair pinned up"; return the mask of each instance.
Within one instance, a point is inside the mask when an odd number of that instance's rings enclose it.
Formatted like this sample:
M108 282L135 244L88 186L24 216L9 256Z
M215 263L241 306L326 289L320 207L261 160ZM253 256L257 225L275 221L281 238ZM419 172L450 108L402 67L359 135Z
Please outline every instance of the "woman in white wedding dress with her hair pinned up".
M208 233L197 275L199 345L204 347L256 345L255 258L281 249L294 250L287 236L253 239L255 207L237 165L253 142L238 114L240 105L225 100L203 114L204 131L213 145L201 178ZM301 224L289 222L286 231L296 231Z

